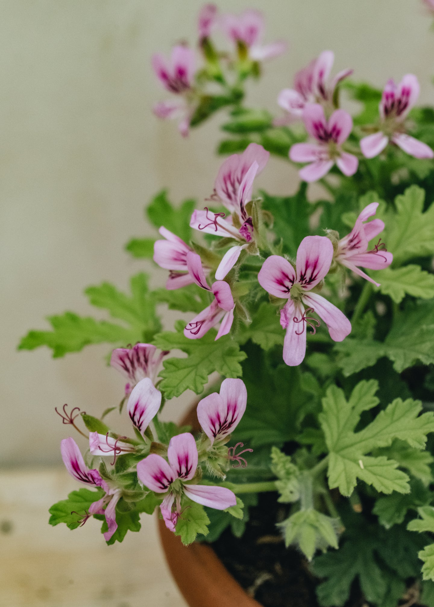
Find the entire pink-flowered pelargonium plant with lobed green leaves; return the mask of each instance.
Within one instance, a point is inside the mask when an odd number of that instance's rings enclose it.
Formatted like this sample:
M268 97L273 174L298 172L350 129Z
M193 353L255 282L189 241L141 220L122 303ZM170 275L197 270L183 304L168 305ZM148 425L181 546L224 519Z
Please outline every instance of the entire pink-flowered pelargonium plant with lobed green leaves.
M129 294L89 287L113 320L66 312L19 345L58 357L106 342L126 380L97 416L57 409L86 439L61 443L84 487L50 523L97 518L112 544L158 509L185 544L226 528L241 537L272 492L286 513L276 532L309 561L320 605L344 605L354 580L372 605L409 589L434 605L434 109L416 105L418 80L399 65L384 90L351 69L331 79L329 50L281 83L275 115L249 107L246 81L284 50L263 30L258 12L207 5L197 49L152 60L170 95L154 112L182 135L229 113L206 200L172 205L160 192L146 209L160 236L126 245L168 271L166 287L149 290L143 273ZM258 191L270 156L299 169L295 194ZM165 306L187 320L163 331ZM161 421L187 390L198 428Z

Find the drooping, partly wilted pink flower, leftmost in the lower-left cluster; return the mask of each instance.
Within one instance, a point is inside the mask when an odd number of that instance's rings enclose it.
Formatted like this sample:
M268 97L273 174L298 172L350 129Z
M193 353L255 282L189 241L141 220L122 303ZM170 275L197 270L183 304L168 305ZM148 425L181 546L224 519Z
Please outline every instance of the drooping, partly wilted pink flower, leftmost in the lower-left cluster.
M98 470L88 469L86 464L84 464L83 456L80 453L80 449L78 449L77 443L75 443L71 436L61 441L60 451L67 471L75 480L86 485L102 487L105 491L105 495L100 500L94 501L91 504L88 512L84 515L83 523L93 514L105 514L108 531L105 532L104 537L106 541L109 541L117 529L115 506L121 497L120 490L109 487L100 476ZM103 506L106 505L106 509L103 510Z

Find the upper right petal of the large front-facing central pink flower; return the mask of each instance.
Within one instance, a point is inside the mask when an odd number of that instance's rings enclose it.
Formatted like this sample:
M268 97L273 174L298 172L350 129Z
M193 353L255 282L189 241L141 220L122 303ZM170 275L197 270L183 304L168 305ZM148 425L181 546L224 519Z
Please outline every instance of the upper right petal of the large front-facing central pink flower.
M297 251L297 282L310 291L329 271L333 245L325 236L306 236Z

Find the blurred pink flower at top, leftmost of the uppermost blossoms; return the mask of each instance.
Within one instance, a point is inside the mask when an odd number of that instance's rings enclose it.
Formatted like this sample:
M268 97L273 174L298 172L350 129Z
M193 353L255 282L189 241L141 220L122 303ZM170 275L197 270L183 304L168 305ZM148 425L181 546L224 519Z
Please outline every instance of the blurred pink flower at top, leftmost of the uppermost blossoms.
M185 46L173 47L171 58L165 59L157 53L152 58L154 72L165 89L176 95L184 95L177 100L168 100L154 106L154 114L159 118L179 119L179 131L186 137L190 126L191 108L185 99L193 85L196 59L193 50Z

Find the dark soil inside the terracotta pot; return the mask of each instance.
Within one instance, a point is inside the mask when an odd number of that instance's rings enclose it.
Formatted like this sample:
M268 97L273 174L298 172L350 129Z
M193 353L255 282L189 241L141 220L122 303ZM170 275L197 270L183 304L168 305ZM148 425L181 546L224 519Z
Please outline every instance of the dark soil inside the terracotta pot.
M319 607L306 558L286 548L276 521L288 517L288 508L275 493L261 493L242 538L226 529L212 546L227 570L263 607ZM407 603L408 605L409 603ZM368 607L354 584L346 607ZM413 605L417 607L417 605Z

